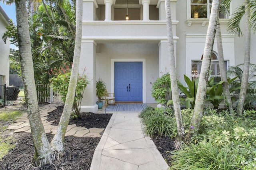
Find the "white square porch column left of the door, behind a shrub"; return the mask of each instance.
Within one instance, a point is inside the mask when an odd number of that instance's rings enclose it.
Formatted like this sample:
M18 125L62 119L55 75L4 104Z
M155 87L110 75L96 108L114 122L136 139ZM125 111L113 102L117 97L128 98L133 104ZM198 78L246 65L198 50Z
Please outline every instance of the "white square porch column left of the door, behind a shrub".
M81 56L79 63L79 74L84 74L88 77L89 84L87 84L84 90L84 98L81 102L82 112L95 113L98 110L96 105L96 43L93 40L82 40Z

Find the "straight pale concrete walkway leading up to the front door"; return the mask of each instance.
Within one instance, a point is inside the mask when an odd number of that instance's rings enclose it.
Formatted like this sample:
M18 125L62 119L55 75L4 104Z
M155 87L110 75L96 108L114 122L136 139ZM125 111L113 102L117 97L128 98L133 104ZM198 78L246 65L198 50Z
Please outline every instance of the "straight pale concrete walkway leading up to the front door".
M138 114L113 113L94 151L90 170L168 169L153 141L142 132Z

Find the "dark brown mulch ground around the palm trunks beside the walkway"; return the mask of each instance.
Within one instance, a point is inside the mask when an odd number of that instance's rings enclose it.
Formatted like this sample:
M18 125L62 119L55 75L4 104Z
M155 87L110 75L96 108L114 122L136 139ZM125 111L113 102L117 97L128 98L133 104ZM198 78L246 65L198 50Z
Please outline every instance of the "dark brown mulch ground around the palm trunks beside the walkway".
M52 125L58 125L63 106L49 113L48 121L54 121ZM81 119L70 119L69 124L76 124L86 128L106 128L112 114L82 113ZM54 135L46 134L50 141ZM0 160L0 170L89 170L94 150L100 141L100 137L74 137L64 138L65 156L56 160L53 164L40 168L33 167L30 163L34 155L31 133L14 133L16 139L14 149L10 150ZM174 148L173 140L168 137L153 137L157 149L170 165L170 158L166 151Z

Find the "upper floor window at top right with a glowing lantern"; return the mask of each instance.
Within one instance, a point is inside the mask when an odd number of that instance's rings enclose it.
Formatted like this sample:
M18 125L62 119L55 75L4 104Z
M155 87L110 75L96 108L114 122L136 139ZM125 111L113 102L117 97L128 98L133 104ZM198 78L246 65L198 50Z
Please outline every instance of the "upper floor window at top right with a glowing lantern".
M212 0L190 0L191 18L210 18ZM226 18L220 13L220 18Z

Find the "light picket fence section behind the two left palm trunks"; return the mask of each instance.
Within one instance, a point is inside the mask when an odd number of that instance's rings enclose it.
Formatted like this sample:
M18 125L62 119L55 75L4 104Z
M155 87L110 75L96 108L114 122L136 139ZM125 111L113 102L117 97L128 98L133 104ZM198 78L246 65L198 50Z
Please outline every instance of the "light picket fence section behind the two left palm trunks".
M61 96L52 90L52 84L36 84L38 102L59 103Z

